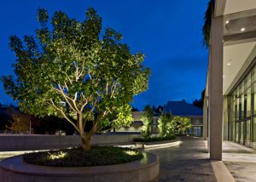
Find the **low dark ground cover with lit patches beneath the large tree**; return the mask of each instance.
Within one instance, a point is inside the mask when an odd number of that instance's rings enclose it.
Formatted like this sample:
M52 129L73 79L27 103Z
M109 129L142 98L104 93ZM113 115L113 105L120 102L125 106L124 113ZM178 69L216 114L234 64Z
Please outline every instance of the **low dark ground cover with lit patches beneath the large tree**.
M55 167L104 166L133 162L142 158L143 153L140 151L113 146L93 146L90 151L81 148L39 151L23 156L25 162Z

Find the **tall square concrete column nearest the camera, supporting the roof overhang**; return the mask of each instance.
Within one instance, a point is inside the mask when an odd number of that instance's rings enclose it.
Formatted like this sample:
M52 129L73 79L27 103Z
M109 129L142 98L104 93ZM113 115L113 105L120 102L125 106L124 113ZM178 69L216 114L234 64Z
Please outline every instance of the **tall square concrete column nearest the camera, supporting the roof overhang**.
M209 151L210 159L222 160L223 122L223 16L212 17L209 65Z

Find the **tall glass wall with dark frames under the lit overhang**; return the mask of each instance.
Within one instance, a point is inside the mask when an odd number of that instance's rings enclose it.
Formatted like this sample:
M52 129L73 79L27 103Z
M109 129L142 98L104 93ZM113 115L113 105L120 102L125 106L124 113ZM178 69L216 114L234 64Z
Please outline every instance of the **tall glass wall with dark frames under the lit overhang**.
M229 139L256 149L256 67L229 95Z

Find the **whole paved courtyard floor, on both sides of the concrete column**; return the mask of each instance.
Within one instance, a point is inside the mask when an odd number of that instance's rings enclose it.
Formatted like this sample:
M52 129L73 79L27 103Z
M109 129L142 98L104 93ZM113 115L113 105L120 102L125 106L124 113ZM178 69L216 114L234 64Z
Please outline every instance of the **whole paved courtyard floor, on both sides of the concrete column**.
M217 181L212 169L207 142L201 138L183 138L180 145L147 150L160 157L158 181ZM0 152L0 161L23 152ZM233 142L223 142L223 161L237 182L256 181L256 151Z

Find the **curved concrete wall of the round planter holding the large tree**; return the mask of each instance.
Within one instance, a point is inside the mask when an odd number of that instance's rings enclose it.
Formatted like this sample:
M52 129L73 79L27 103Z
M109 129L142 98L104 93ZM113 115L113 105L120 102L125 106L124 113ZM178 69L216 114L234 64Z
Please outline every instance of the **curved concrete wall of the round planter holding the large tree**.
M145 152L144 158L125 164L59 168L23 162L22 156L13 156L0 162L0 181L4 182L144 182L157 179L158 156Z

